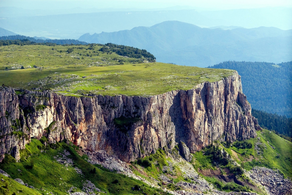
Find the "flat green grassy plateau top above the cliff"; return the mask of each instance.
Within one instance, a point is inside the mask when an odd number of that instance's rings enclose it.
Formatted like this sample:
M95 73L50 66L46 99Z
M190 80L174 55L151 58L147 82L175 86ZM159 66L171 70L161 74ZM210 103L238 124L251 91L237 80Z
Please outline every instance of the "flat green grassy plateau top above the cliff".
M0 84L64 95L157 95L219 81L234 70L148 62L99 51L102 46L1 46ZM68 53L68 48L73 51ZM53 49L53 50L52 50ZM67 52L66 52L67 51ZM83 78L84 77L84 78Z

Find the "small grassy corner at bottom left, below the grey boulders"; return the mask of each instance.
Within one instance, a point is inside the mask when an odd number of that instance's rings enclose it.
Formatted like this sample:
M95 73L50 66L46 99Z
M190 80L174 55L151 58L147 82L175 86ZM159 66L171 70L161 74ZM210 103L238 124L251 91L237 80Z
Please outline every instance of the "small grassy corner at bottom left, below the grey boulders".
M21 185L17 181L14 181L11 178L0 175L0 178L4 181L0 181L0 194L2 195L11 195L11 194L19 194L19 195L41 195L41 193ZM1 180L0 179L0 180Z

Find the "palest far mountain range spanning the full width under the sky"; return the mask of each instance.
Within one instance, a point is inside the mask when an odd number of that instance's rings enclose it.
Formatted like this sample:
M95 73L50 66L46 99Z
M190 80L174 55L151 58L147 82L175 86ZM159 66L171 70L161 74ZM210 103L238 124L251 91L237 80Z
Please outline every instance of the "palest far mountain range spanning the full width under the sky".
M130 30L177 20L201 27L242 26L255 28L274 26L292 29L292 8L237 9L200 11L195 9L23 9L0 7L0 26L21 35L44 36L51 39L76 39L85 33ZM279 14L280 13L280 14Z

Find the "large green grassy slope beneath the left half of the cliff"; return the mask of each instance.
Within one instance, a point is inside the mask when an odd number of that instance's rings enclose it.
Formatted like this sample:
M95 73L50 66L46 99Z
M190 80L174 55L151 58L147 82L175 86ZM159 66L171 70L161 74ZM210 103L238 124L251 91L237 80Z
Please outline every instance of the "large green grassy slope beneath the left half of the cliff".
M12 178L20 178L25 183L34 186L41 193L44 192L40 190L42 188L54 194L65 195L72 186L77 187L75 191L81 191L83 181L89 180L107 194L163 194L161 190L149 187L142 181L89 164L84 160L86 158L77 154L75 149L78 148L73 144L60 143L59 145L57 149L46 149L45 152L41 152L38 148L44 145L39 140L31 139L26 149L20 152L20 162L17 163L13 157L6 155L0 168ZM73 165L82 170L83 176L77 174L73 166L66 167L55 160L54 156L59 155L59 152L64 149L69 151ZM34 162L32 167L28 166L31 165L31 161ZM92 173L91 170L94 168L96 172ZM132 190L135 186L139 186L142 190Z

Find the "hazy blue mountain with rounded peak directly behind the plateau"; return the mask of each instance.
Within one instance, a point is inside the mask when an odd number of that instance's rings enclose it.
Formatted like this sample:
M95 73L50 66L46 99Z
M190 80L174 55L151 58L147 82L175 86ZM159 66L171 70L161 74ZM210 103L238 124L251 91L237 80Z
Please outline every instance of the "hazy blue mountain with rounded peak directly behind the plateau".
M228 60L280 63L292 59L292 30L274 27L222 30L166 21L132 30L87 33L78 40L143 48L151 52L158 62L199 67Z

